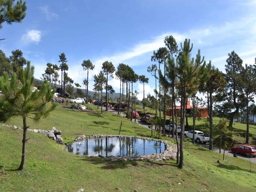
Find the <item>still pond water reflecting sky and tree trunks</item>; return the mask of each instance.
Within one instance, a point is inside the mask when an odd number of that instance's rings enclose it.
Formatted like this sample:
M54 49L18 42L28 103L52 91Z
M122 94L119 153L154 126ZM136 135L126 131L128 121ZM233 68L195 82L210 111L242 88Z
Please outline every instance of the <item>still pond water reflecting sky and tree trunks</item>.
M162 153L165 150L163 142L145 140L135 137L103 137L88 138L73 142L66 151L77 155L87 156L138 156Z

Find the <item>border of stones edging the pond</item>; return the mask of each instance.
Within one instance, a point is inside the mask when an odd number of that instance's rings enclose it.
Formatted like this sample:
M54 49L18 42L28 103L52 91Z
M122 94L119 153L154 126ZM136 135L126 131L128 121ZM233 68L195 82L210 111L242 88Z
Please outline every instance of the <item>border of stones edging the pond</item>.
M128 135L100 135L100 134L94 134L92 136L86 136L86 135L79 135L78 138L75 138L74 141L81 141L87 138L102 138L102 137L134 137L134 138L140 138L145 140L151 140L151 141L159 141L163 142L165 146L165 150L162 154L152 154L152 155L139 155L139 156L108 156L104 157L102 155L99 155L98 157L105 158L108 161L135 161L135 160L141 160L141 161L165 161L168 159L176 159L177 157L177 146L174 143L170 143L165 140L161 139L154 139L149 137L138 137L138 136L128 136ZM97 156L89 156L89 157L97 157Z

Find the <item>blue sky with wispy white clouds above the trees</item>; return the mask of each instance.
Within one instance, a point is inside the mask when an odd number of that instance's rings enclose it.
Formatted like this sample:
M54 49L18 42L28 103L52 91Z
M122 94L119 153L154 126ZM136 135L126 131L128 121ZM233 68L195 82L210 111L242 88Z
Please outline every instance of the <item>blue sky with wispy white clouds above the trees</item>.
M145 93L153 93L154 78L147 66L153 50L164 46L164 37L173 35L178 44L190 38L205 60L225 69L227 54L234 50L243 63L254 64L256 57L256 1L61 1L27 0L27 16L22 23L3 24L0 42L7 56L21 49L35 66L35 77L44 73L47 62L59 64L66 54L68 75L81 85L86 78L81 63L90 59L101 70L104 61L115 66L125 63L136 73L149 77ZM76 3L74 3L76 2ZM119 81L109 83L119 92ZM143 98L143 87L135 84Z

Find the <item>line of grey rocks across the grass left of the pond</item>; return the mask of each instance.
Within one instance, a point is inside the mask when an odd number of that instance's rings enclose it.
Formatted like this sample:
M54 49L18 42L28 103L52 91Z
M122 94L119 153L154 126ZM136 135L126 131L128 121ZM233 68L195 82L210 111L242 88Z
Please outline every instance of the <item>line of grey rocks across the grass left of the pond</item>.
M0 124L1 126L12 127L14 129L22 129L21 127L12 126L12 125L5 125L4 123ZM43 129L27 129L27 131L40 133L43 135L48 136L50 139L56 141L58 144L64 144L63 139L61 138L61 130L56 130L55 127L52 127L52 130L43 130Z

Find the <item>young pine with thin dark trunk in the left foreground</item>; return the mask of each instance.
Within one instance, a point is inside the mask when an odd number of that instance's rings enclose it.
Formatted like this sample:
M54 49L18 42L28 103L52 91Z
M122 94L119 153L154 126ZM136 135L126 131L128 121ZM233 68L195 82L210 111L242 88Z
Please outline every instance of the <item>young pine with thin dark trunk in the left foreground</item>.
M38 122L45 118L55 107L56 103L49 104L55 91L51 91L50 83L44 81L40 91L32 92L34 82L34 66L19 69L18 78L16 73L12 73L9 80L7 72L0 77L0 90L3 96L0 97L0 121L7 121L12 116L21 116L23 119L23 139L22 139L22 158L19 170L24 168L26 157L27 139L27 118Z

